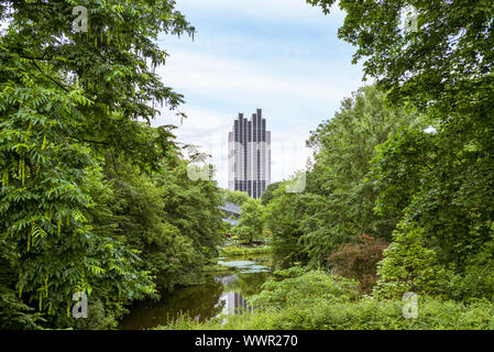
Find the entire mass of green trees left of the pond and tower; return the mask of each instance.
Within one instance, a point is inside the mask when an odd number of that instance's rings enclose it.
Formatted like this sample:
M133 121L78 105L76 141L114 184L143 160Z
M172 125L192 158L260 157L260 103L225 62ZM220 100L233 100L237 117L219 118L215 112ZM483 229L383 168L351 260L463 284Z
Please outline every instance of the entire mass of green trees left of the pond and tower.
M0 1L0 301L4 328L113 328L123 305L198 280L221 197L191 182L156 105L160 32L193 34L174 1ZM142 122L145 121L145 122ZM3 275L4 273L4 275ZM89 296L89 319L70 316ZM43 316L43 320L40 319Z

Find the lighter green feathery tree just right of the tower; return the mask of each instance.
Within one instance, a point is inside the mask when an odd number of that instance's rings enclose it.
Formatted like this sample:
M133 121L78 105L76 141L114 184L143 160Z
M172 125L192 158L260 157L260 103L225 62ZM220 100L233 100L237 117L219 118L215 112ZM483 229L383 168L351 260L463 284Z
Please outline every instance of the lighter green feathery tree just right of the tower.
M305 191L286 193L282 185L266 206L282 262L330 266L327 258L359 235L391 240L398 219L375 213L380 188L367 178L370 162L376 145L409 125L421 125L411 107L392 106L385 94L366 87L312 132L308 144L315 148L315 164Z

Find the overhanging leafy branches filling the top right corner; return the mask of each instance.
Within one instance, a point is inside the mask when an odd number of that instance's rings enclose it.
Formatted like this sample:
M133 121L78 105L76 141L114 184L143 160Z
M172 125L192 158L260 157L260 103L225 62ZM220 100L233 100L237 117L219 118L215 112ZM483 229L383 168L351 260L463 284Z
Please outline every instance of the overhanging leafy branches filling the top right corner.
M336 0L307 2L329 13ZM353 63L364 61L365 75L393 98L410 99L444 122L492 112L492 1L343 0L339 7L347 16L338 35L356 46ZM407 18L416 26L405 30Z

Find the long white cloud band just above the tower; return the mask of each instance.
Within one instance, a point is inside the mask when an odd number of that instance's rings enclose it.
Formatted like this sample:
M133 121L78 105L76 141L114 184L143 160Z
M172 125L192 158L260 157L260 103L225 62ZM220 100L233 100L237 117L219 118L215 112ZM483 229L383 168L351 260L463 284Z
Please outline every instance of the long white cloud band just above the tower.
M305 77L300 77L295 69L281 76L279 72L274 70L275 67L273 72L266 70L266 67L271 65L174 51L166 67L158 68L157 73L164 77L167 85L177 90L195 91L219 100L228 97L230 102L232 99L245 102L255 100L255 97L320 101L341 98L343 77L334 75L331 79L328 73L317 75L310 68L307 68ZM334 85L337 80L338 86Z

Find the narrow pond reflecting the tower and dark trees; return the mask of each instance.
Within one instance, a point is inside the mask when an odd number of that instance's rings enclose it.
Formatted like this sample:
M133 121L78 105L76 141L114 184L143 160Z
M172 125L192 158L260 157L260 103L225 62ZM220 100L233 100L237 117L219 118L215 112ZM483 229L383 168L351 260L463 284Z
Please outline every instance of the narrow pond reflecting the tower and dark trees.
M199 317L201 321L220 315L240 314L248 307L245 297L257 294L272 272L266 256L220 258L218 264L232 270L228 274L207 275L202 285L175 288L158 301L133 305L119 329L150 329L167 324L180 314Z

